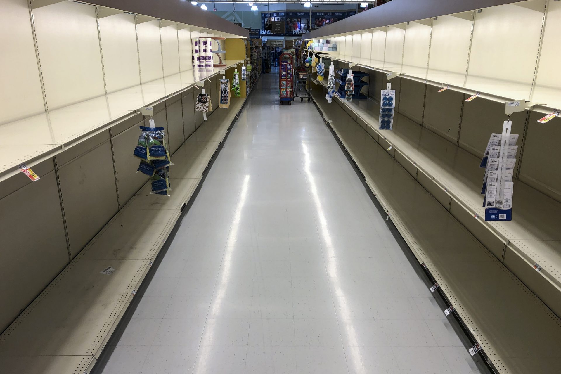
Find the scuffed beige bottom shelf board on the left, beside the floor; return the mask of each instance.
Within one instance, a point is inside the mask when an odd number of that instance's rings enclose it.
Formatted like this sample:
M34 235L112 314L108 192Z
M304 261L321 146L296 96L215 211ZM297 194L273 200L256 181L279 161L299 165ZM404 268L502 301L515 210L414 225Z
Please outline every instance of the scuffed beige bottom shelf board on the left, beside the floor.
M245 98L217 109L174 153L171 196L144 187L0 335L13 373L89 372L196 190ZM113 274L100 274L108 266Z

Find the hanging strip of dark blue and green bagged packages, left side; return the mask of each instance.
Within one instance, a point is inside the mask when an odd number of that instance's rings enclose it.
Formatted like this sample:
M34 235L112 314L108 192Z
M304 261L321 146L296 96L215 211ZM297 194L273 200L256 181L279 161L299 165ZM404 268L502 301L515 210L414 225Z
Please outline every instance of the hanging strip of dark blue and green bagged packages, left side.
M150 177L151 192L158 195L169 195L169 165L172 165L165 141L163 127L153 127L154 119L150 119L150 127L140 126L141 134L135 147L134 155L140 159L137 172Z

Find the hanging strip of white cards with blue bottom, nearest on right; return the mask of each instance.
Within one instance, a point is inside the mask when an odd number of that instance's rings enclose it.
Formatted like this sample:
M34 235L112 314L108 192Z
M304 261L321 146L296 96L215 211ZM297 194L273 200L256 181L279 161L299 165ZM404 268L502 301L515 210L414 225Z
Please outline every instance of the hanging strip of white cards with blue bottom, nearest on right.
M485 196L486 221L512 221L512 177L516 165L516 141L511 135L512 121L504 121L503 133L491 134L480 167L485 167L481 193Z

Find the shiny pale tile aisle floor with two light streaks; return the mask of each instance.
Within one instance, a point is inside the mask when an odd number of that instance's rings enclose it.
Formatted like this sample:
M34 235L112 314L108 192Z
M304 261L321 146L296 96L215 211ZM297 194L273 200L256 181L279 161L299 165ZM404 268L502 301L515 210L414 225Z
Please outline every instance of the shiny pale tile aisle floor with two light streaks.
M96 372L487 373L314 104L277 93L261 77Z

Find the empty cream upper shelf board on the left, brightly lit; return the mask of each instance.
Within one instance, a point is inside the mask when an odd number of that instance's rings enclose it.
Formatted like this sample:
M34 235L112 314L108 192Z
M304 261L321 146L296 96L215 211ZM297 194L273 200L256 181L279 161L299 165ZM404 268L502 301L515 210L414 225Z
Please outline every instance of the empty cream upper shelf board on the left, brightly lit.
M150 106L205 81L240 61L227 60L226 67L213 71L187 70L146 82L98 98L64 108L50 110L38 116L0 125L0 131L11 136L0 140L0 181L19 172L17 165L28 167L76 145L86 138L106 130L126 119L141 107ZM77 119L79 118L79 119ZM17 146L11 144L18 139Z

